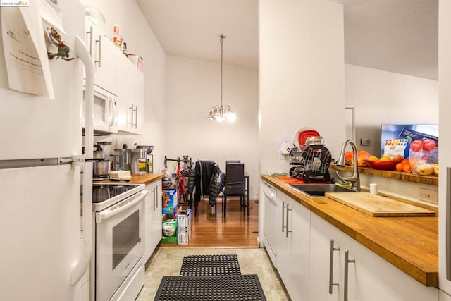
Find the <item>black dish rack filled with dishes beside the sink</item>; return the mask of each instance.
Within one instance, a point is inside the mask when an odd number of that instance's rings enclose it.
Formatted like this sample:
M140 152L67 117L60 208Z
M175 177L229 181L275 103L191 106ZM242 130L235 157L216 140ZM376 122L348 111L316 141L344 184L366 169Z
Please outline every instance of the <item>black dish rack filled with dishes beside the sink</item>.
M299 145L290 150L290 164L298 167L290 171L292 178L301 178L304 182L328 182L329 166L332 156L323 145Z

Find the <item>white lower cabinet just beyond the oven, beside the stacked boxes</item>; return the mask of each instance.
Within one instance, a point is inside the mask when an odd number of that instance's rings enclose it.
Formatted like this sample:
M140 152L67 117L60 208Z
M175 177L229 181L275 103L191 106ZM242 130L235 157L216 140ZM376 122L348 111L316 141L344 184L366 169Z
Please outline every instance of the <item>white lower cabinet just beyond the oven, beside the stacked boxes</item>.
M161 180L147 184L146 190L149 193L144 201L146 207L144 262L147 262L161 240Z

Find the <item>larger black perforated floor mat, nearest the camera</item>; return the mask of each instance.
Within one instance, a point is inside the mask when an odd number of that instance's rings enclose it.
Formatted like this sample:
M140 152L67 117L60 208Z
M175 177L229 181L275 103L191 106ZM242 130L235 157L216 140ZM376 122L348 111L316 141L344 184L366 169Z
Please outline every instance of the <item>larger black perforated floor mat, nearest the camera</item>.
M266 301L257 275L164 276L154 301Z

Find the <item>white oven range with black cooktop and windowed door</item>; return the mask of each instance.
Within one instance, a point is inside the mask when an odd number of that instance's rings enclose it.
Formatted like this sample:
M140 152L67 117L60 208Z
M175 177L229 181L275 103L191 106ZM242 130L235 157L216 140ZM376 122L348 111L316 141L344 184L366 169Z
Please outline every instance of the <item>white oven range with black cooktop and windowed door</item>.
M95 300L135 300L144 285L143 184L93 184Z

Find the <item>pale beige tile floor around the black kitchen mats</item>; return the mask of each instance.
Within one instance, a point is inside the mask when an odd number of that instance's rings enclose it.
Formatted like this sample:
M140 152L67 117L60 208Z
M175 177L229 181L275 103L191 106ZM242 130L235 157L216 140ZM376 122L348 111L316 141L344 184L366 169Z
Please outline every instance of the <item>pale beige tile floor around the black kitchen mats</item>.
M146 281L137 301L154 300L163 276L179 276L183 257L189 255L236 254L241 274L257 274L266 300L290 300L264 248L182 249L158 248L146 269Z

